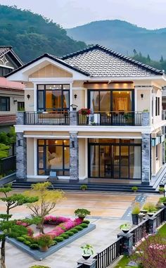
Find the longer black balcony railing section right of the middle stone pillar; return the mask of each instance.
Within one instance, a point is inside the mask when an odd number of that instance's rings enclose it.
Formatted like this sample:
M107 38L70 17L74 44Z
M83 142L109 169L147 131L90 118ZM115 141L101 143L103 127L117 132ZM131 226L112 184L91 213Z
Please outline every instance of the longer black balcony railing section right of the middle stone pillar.
M141 112L94 112L89 115L78 113L78 125L141 126Z

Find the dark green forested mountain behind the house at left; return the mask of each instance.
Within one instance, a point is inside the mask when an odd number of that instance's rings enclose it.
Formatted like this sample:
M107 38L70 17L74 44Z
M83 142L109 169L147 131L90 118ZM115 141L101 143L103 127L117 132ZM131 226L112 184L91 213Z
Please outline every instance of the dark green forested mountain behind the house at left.
M13 46L24 63L42 53L63 56L86 47L52 20L16 6L0 5L0 46L7 45Z

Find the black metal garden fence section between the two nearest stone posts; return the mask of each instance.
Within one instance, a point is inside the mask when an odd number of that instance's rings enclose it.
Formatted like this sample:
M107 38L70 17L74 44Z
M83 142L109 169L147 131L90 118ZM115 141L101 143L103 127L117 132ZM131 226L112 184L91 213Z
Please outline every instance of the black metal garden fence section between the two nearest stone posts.
M123 239L122 237L117 238L113 244L111 244L108 248L98 253L94 256L96 259L96 268L106 268L113 261L115 261L120 255L123 253Z

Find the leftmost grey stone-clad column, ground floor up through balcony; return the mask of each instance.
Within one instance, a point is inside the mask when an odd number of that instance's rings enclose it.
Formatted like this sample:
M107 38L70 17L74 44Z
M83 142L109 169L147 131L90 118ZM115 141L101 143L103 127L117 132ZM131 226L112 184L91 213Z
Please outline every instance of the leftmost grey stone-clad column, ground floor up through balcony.
M25 113L18 112L16 125L25 124ZM27 179L27 139L23 132L16 134L16 177L17 181L26 181Z

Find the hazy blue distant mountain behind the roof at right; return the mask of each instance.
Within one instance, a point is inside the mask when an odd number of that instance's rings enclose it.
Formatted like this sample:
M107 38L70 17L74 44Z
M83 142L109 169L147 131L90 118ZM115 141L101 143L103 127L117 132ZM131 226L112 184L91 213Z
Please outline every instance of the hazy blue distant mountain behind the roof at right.
M122 20L100 20L66 31L76 40L101 44L125 55L133 55L135 49L154 60L166 58L166 28L148 30Z

